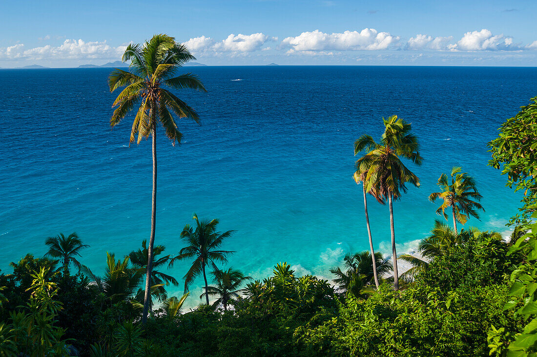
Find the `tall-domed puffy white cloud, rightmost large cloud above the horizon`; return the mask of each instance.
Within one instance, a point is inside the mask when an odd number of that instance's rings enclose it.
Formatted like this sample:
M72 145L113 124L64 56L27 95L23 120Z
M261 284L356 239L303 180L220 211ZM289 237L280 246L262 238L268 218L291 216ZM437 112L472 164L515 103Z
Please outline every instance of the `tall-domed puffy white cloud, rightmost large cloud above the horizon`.
M512 37L503 34L492 35L490 30L483 28L481 31L467 32L457 42L453 49L462 51L487 51L487 50L519 50L520 46L513 43Z

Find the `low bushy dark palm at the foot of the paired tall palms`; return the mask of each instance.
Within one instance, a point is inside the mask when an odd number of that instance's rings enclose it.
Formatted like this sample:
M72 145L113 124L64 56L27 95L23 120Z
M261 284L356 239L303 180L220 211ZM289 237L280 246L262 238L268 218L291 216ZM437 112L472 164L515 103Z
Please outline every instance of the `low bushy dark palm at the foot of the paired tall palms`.
M362 282L362 286L369 285L374 280L375 275L385 274L392 269L389 260L384 259L381 253L375 253L374 260L368 251L352 255L347 253L343 261L345 271L340 267L330 269L330 273L336 275L332 281L336 283L339 292L349 292L351 285L357 286L357 280ZM375 261L375 265L373 265L373 261Z

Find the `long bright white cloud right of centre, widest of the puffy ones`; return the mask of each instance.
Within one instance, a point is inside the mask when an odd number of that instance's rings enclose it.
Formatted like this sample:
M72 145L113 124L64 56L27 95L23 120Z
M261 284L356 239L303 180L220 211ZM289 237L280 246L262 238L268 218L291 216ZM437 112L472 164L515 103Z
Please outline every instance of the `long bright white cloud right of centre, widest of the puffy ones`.
M379 50L394 46L399 37L388 32L378 32L374 28L343 33L324 33L319 30L302 32L296 37L287 37L281 41L281 47L291 47L294 51L329 51L329 50Z

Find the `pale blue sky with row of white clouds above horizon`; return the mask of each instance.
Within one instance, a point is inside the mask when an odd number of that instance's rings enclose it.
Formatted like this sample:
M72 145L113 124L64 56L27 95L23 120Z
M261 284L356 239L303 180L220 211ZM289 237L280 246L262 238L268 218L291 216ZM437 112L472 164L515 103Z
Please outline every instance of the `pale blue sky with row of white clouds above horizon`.
M537 2L7 1L0 67L117 61L166 33L207 65L537 65Z

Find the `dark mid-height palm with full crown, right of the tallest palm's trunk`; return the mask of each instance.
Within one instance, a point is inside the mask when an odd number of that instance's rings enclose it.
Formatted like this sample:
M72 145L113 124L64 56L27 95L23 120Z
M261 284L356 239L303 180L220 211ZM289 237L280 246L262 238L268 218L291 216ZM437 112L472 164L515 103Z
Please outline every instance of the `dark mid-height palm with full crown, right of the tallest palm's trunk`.
M188 272L184 276L185 280L185 293L188 291L188 286L192 284L195 278L200 274L203 275L205 280L205 292L208 292L207 275L205 273L205 267L211 265L214 270L218 270L215 261L219 263L227 263L227 257L234 253L227 250L219 250L222 242L225 238L231 237L234 231L227 231L220 233L216 231L216 226L219 220L199 220L198 216L194 213L192 219L196 221L196 227L192 227L190 224L186 224L185 228L181 232L181 238L183 242L187 244L183 249L179 251L177 257L174 257L170 261L170 266L173 265L175 260L194 259L192 266L188 269ZM209 295L205 295L207 298L207 305L209 304Z

